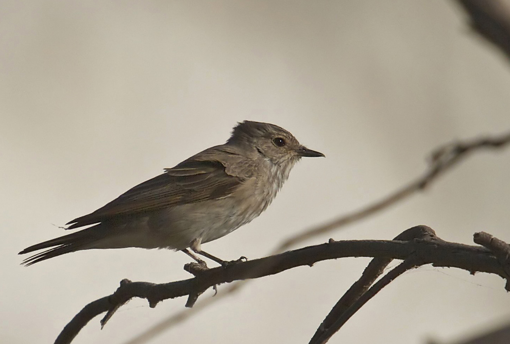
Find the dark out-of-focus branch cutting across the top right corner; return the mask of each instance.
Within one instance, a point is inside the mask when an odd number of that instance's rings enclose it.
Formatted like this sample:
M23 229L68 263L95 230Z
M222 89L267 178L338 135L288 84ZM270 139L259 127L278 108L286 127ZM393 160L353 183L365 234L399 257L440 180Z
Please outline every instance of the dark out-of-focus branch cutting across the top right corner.
M510 58L510 9L498 0L458 0L470 26Z

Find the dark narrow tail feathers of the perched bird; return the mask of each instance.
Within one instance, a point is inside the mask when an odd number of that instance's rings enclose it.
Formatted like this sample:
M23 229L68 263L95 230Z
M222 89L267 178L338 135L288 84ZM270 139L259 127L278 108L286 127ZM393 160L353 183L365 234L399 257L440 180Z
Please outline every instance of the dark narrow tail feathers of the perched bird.
M100 225L96 225L90 228L86 228L79 232L67 234L61 236L59 238L55 238L52 240L44 241L35 245L32 245L18 254L25 254L34 251L39 251L43 249L48 249L38 254L35 254L25 260L21 264L25 266L30 266L32 264L38 263L40 261L57 257L69 252L75 252L80 250L86 250L91 248L91 243L98 239L97 233L98 227Z

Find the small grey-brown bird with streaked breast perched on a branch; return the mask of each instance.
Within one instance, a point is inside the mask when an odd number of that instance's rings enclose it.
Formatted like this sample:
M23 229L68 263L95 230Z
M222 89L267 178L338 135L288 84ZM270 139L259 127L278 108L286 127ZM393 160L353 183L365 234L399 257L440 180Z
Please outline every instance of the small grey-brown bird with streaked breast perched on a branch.
M201 244L221 238L259 216L273 201L302 157L324 157L287 130L244 120L226 143L184 160L127 190L105 206L77 217L66 230L87 227L32 245L19 254L29 266L90 249L170 249L225 261Z

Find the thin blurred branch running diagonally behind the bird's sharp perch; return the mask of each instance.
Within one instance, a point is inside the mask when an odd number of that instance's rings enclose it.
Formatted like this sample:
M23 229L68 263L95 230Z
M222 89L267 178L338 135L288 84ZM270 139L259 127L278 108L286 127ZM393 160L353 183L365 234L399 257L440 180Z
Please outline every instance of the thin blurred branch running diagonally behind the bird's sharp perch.
M344 214L322 226L314 227L309 230L305 230L295 236L291 236L279 244L271 254L284 252L293 245L308 240L314 236L325 234L333 230L338 230L351 223L387 209L390 206L397 204L399 201L403 201L414 193L425 189L426 186L429 186L433 181L441 176L441 174L448 171L455 164L467 158L469 153L481 151L483 149L501 149L509 143L510 132L502 135L485 136L478 139L454 141L449 144L445 144L440 148L432 151L430 158L428 159L429 165L427 170L421 177L418 177L409 184L406 184L396 191L386 195L384 198L375 203L362 207L359 210ZM195 308L191 310L181 311L179 313L173 314L162 322L142 332L140 335L125 342L124 344L142 344L146 342L147 340L157 336L170 327L183 322L196 312L206 308L211 304L214 304L215 302L220 301L221 299L229 296L234 292L239 291L243 287L244 283L247 283L247 281L239 281L237 283L233 283L232 285L228 286L226 290L220 291L214 299L210 298L205 301L201 301Z

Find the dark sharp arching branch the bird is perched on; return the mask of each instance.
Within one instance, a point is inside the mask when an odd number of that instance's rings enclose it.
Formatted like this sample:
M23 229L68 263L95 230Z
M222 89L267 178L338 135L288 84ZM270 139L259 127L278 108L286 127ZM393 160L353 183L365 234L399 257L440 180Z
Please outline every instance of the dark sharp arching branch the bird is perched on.
M431 232L426 226L417 226L406 232ZM274 275L297 266L313 266L316 262L345 257L377 257L382 259L406 260L413 257L413 264L432 264L465 269L470 273L486 272L506 278L505 269L497 257L486 248L447 242L435 237L421 240L346 240L305 247L265 258L237 262L226 267L203 269L197 263L185 265L194 278L154 284L123 280L110 296L98 299L85 306L67 324L55 344L70 343L79 331L96 315L106 312L101 321L105 325L112 314L132 298L147 299L151 308L167 299L188 296L195 300L203 291L222 283L255 279ZM387 281L389 283L389 281ZM369 290L370 291L370 290ZM374 293L375 294L375 293ZM368 299L367 299L368 301ZM365 301L366 302L366 301ZM192 304L190 304L192 306ZM361 307L362 304L359 304ZM357 309L356 309L357 310ZM355 310L354 310L355 311Z

